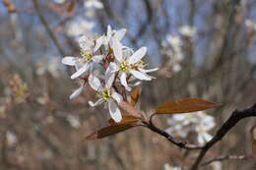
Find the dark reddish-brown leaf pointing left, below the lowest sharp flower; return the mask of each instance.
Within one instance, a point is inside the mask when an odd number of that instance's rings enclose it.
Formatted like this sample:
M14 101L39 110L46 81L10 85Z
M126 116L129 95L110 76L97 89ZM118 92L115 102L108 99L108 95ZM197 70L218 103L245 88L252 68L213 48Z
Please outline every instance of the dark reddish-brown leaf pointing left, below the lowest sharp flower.
M85 138L85 141L93 141L96 139L103 139L105 137L111 136L111 135L115 135L118 134L120 132L129 130L133 127L135 127L136 125L134 124L121 124L121 125L111 125L108 127L104 127L98 131L96 131L95 133L87 136Z

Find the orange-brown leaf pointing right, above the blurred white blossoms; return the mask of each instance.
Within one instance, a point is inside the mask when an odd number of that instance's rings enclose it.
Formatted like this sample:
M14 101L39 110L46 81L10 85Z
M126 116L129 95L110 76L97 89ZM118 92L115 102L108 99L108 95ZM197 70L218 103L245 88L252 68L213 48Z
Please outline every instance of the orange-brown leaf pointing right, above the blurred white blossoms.
M201 98L185 98L161 103L156 109L157 114L188 113L206 110L218 106L217 103Z

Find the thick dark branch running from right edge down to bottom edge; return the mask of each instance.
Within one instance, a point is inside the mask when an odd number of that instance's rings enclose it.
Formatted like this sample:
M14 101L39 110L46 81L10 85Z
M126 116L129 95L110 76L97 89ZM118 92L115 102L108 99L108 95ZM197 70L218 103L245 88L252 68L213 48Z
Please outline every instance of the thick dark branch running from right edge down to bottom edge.
M224 135L233 128L240 120L256 116L256 103L244 110L235 110L232 112L231 116L224 122L224 125L219 129L214 138L207 142L206 145L202 148L200 154L198 155L195 163L191 167L191 170L196 170L202 161L203 157L207 153L207 151L217 142L221 141L224 138Z

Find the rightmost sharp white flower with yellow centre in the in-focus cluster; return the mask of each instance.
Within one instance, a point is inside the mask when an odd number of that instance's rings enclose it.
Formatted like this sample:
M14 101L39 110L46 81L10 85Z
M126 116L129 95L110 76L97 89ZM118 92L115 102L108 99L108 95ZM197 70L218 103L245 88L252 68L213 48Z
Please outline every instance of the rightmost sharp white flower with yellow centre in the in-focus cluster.
M129 55L130 51L129 49L123 51L122 44L117 39L113 39L113 52L117 63L110 63L109 68L111 73L119 72L121 85L124 85L127 90L130 90L130 87L127 85L129 74L142 81L151 81L154 77L147 75L147 73L158 70L158 68L144 69L145 65L141 59L147 52L146 47L141 47L132 55Z

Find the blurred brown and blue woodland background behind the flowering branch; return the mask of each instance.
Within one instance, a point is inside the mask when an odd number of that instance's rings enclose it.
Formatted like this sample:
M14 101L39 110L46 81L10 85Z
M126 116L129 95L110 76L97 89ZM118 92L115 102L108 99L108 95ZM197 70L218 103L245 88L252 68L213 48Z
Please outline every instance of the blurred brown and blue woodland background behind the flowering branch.
M78 55L77 37L127 28L123 43L148 47L147 62L160 67L142 85L138 108L186 97L221 104L207 111L218 127L235 109L256 101L256 1L254 0L2 0L0 3L0 169L187 169L197 151L180 150L135 128L82 142L107 125L108 112L89 107L92 91L74 100L79 85L61 58ZM162 129L166 119L155 118ZM251 152L255 119L240 122L205 159ZM193 139L189 142L196 143ZM165 165L165 166L164 166ZM255 159L226 160L202 169L253 170Z

